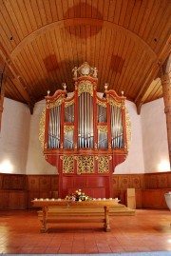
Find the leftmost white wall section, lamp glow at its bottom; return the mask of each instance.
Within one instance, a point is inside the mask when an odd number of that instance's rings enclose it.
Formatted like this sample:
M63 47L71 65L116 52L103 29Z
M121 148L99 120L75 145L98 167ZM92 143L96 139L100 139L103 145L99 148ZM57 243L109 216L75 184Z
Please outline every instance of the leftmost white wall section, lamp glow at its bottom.
M29 122L28 107L5 98L0 133L0 172L26 172Z

